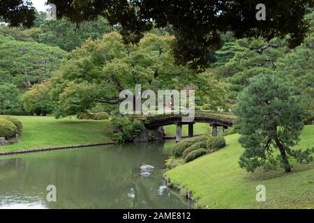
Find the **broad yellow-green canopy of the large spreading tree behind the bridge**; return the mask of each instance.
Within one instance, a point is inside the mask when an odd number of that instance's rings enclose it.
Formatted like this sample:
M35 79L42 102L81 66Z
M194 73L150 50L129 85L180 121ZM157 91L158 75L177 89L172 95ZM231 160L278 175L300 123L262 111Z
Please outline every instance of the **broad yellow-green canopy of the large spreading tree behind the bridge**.
M141 84L142 91L194 86L200 95L207 92L207 100L220 101L221 86L209 73L196 75L174 66L172 40L172 36L147 34L138 45L124 45L122 37L112 32L102 40L87 41L70 53L51 81L59 104L57 116L86 112L96 102L117 104L119 93L134 92L135 84Z

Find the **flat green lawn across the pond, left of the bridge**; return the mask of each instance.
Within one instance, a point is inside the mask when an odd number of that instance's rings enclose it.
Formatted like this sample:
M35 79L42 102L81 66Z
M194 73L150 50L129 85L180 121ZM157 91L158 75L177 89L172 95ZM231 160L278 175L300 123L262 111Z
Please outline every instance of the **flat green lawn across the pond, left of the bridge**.
M23 124L18 144L1 146L1 151L27 148L97 144L111 141L110 121L76 120L43 116L15 116Z

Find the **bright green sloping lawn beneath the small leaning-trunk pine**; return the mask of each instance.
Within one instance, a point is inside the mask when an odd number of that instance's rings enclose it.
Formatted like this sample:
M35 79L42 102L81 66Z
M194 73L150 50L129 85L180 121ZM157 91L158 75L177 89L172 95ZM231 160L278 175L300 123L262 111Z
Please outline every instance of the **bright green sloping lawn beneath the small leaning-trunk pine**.
M308 125L296 148L314 146L314 125ZM172 183L193 191L197 204L207 208L314 208L313 164L247 173L238 164L243 148L239 135L225 137L227 147L167 171ZM257 202L256 186L266 187L266 202Z

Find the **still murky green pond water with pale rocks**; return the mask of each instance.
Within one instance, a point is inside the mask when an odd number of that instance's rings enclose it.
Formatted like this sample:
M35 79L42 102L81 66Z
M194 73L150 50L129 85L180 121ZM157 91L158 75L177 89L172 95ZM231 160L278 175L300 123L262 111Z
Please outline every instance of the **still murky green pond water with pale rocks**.
M0 208L189 208L162 177L173 142L0 157ZM147 178L139 167L156 168ZM57 201L48 202L47 186Z

